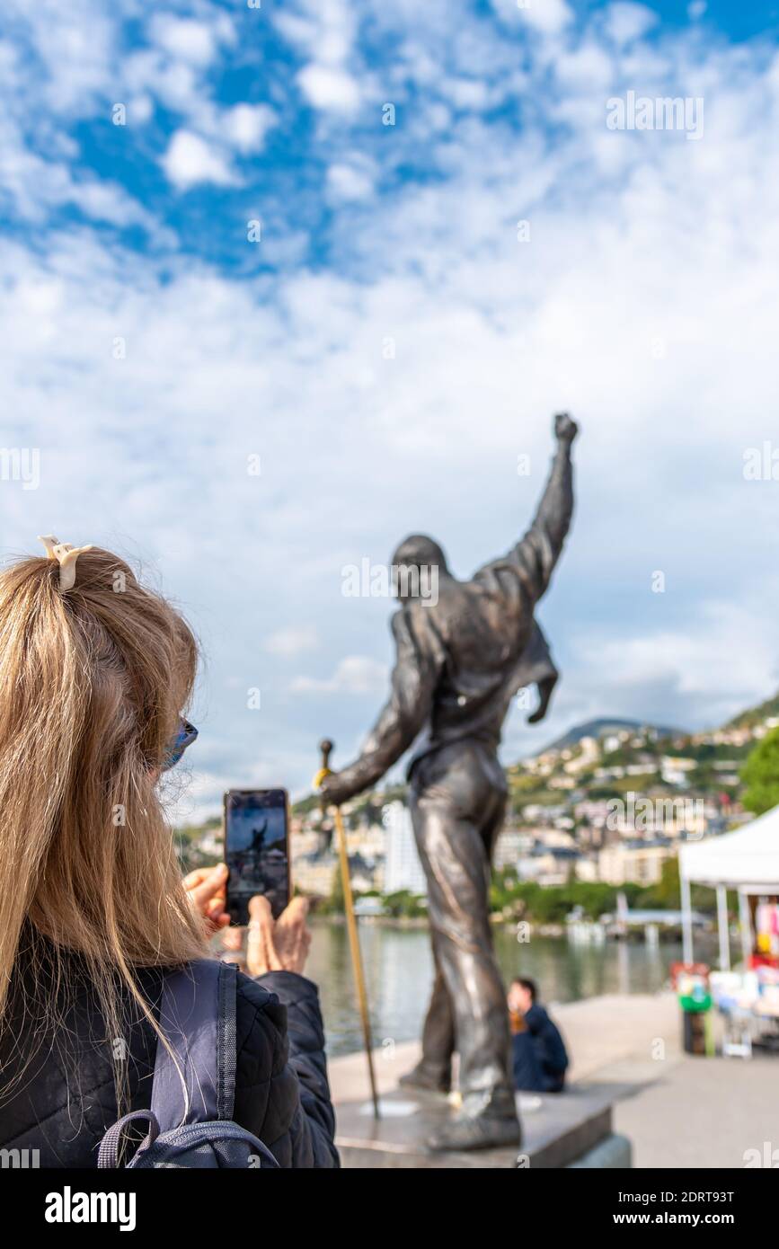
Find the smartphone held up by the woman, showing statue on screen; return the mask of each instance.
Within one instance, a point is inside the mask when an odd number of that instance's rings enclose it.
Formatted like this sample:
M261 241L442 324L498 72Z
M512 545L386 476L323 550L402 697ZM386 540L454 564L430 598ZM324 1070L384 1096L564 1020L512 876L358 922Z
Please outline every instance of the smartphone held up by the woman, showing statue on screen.
M263 893L277 918L290 901L290 819L286 789L228 789L225 863L231 923L248 923L248 899Z

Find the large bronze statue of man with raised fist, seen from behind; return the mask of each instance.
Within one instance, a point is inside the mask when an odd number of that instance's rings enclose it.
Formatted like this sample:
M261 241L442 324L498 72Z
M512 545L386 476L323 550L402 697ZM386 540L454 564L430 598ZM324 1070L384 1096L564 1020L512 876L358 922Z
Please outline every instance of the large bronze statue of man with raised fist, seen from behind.
M539 706L529 719L539 719L557 681L533 610L571 525L577 426L561 415L554 432L557 451L536 518L506 556L461 582L432 538L408 537L396 551L402 607L392 617L392 692L360 758L322 784L328 802L346 802L376 784L424 731L408 779L427 878L436 980L422 1059L402 1083L448 1090L452 1054L459 1054L462 1108L429 1142L434 1149L521 1139L488 888L508 792L497 757L503 721L517 691L532 682L538 684ZM422 583L426 597L418 593Z

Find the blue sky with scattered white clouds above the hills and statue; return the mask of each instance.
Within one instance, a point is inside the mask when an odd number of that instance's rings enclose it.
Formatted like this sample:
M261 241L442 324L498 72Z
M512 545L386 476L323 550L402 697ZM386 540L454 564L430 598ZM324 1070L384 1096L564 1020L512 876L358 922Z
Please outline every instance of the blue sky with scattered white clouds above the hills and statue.
M392 605L342 570L412 531L461 576L498 555L561 408L563 681L504 758L773 692L779 485L744 457L779 447L777 5L11 0L0 24L2 442L40 450L37 490L0 482L2 553L100 542L182 606L184 816L302 792L325 733L351 759ZM629 91L703 100L702 134L610 130Z

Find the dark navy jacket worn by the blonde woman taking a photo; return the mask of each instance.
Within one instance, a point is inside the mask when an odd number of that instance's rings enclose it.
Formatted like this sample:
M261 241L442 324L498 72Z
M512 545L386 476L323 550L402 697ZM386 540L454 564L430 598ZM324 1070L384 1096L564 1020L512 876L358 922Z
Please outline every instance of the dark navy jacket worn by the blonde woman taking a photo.
M159 1017L162 974L139 972L144 995ZM116 1122L110 1048L127 1058L130 1109L147 1109L157 1038L137 1005L127 1008L119 1042L106 1039L94 990L80 977L67 1030L36 1045L10 1098L7 1077L30 1052L29 1015L19 983L14 1022L0 1047L0 1148L39 1149L41 1167L94 1168L105 1130ZM335 1115L325 1062L325 1035L315 984L292 972L238 978L235 1119L258 1137L281 1167L338 1167Z

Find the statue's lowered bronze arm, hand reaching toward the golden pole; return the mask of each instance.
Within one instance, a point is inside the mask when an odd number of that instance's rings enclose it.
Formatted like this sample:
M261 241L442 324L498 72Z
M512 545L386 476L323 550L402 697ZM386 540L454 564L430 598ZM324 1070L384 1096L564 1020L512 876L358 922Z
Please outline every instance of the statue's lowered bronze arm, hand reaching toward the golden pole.
M416 611L417 627L408 612L398 612L392 620L397 658L390 698L360 757L322 783L328 802L347 802L375 786L408 749L431 713L441 662L432 624L418 615L427 608L418 606Z

